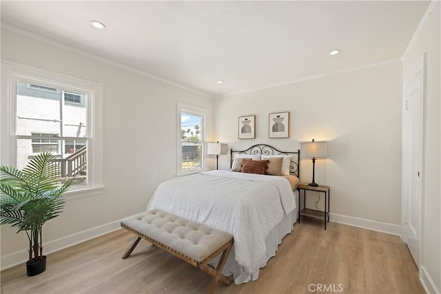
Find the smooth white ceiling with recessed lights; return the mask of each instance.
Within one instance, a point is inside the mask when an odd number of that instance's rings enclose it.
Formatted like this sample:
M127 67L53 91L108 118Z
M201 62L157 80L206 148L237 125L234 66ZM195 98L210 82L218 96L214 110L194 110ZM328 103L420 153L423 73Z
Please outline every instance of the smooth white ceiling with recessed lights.
M429 3L1 1L1 22L225 96L396 61Z

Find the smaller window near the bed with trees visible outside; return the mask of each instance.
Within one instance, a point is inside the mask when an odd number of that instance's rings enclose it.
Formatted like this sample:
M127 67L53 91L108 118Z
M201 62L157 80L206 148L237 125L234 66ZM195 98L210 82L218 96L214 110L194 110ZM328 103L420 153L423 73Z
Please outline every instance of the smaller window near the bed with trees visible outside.
M205 169L206 116L204 109L178 105L178 174Z

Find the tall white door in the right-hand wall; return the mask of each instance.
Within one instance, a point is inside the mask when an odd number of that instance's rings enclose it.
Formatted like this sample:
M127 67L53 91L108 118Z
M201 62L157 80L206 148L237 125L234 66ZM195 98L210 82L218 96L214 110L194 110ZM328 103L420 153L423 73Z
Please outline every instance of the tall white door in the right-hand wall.
M404 85L403 214L404 242L420 266L422 233L422 107L424 59Z

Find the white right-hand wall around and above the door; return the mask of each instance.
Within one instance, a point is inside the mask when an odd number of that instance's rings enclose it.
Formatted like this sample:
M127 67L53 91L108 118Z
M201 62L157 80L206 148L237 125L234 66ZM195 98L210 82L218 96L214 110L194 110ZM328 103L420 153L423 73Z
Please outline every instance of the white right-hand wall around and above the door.
M423 223L420 277L429 293L441 291L441 51L440 1L433 1L431 14L404 55L406 78L427 52L423 130Z

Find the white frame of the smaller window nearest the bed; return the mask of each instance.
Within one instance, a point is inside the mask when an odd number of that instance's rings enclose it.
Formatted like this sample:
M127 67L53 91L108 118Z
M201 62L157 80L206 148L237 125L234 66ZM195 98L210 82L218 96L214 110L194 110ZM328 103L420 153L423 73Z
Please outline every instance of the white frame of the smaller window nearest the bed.
M202 164L201 164L201 168L198 169L188 169L188 170L183 170L182 169L182 139L181 139L181 114L183 112L186 112L188 114L193 114L195 116L202 116L202 121L201 121L201 128L202 128L202 132L201 132L201 146L202 146L202 151L201 151L201 160L202 160ZM178 113L177 113L177 122L178 125L176 127L176 131L178 134L178 140L177 140L177 145L176 145L176 158L177 158L177 165L176 165L176 175L177 176L185 176L188 174L196 174L198 172L201 171L205 171L208 169L208 162L207 162L207 121L208 121L208 116L209 116L209 111L207 109L203 109L203 108L199 108L199 107L194 107L191 105L185 105L182 103L178 103Z

